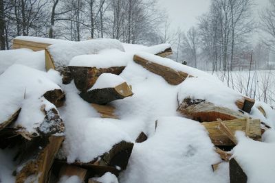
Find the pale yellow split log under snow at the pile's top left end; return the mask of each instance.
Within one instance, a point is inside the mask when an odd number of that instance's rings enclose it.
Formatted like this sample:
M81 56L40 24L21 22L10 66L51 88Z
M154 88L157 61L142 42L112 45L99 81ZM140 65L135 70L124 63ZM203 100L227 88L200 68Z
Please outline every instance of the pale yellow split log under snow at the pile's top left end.
M50 45L52 44L48 44L45 42L30 41L30 40L21 40L18 38L14 38L12 41L12 49L28 48L28 49L32 49L33 51L41 51Z

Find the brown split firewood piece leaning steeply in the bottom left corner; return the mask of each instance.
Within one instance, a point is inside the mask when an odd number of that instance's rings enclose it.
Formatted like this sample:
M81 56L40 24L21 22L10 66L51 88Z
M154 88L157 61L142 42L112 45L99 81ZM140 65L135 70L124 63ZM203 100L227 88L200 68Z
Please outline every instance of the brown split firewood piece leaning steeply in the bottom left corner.
M64 136L50 136L47 145L34 156L35 158L22 165L22 169L17 173L16 182L23 183L25 180L39 183L46 182L54 157L63 140Z

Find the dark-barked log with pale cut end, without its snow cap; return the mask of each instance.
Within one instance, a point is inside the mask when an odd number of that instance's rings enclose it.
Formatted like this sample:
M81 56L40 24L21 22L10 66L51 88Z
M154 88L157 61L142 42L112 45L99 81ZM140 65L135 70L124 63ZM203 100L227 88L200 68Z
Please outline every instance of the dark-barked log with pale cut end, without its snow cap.
M113 88L100 88L80 93L80 97L85 101L96 104L106 104L110 101L124 99L132 95L132 90L126 82Z

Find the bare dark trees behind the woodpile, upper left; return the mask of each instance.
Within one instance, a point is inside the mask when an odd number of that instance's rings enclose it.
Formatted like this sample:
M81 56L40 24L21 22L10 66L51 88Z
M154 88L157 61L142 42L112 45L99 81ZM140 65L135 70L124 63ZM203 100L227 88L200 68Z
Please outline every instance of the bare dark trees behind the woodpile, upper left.
M21 35L153 44L163 19L155 0L0 0L0 48Z

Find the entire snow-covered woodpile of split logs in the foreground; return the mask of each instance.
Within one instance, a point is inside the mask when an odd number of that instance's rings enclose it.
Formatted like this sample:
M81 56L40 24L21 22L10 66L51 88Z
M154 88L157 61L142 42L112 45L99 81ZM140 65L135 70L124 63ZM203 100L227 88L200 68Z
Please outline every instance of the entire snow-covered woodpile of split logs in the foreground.
M170 45L14 48L0 51L0 182L275 181L274 110L164 58Z

